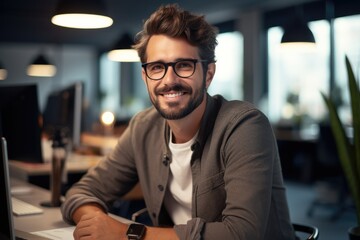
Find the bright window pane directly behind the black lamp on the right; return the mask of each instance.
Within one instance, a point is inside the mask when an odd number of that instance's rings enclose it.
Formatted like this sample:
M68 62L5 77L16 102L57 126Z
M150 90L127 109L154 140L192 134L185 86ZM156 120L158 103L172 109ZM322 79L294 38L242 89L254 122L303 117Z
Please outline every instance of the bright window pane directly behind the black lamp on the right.
M325 20L309 23L316 49L288 51L280 46L283 30L268 30L269 113L272 122L309 124L321 120L326 108L321 92L329 89L330 26Z

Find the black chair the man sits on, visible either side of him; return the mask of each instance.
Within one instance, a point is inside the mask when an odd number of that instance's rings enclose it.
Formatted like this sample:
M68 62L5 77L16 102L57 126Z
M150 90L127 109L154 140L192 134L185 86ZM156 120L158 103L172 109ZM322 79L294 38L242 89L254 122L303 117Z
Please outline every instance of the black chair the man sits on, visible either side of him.
M147 213L147 209L142 208L131 215L131 221L137 222L138 217ZM303 225L298 223L293 223L292 226L294 228L296 240L302 240L302 238L300 237L306 237L304 240L317 240L319 238L319 230L315 226Z

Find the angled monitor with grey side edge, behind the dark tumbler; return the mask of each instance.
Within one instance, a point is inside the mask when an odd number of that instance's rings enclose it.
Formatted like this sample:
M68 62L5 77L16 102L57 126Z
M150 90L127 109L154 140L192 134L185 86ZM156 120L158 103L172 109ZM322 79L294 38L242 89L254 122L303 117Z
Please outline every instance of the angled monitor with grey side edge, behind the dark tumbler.
M56 131L61 131L71 140L72 147L78 147L82 127L82 102L82 82L76 82L49 94L43 112L44 131L50 137L54 136Z

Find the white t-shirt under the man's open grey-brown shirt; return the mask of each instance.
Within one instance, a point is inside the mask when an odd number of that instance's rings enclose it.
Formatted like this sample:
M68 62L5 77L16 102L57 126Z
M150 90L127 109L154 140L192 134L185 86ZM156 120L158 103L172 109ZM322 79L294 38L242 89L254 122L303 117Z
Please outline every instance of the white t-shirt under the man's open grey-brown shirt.
M175 144L170 132L169 148L172 153L170 177L165 207L174 224L186 224L191 219L192 204L192 174L190 168L191 145L197 134L188 142Z

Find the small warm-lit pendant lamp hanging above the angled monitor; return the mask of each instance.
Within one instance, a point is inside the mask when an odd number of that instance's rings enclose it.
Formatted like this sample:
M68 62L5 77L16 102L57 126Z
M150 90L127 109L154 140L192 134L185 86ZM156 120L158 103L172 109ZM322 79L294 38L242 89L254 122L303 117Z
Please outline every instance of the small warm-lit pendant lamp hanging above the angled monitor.
M56 74L56 67L49 63L44 55L40 54L27 67L27 75L32 77L53 77Z

